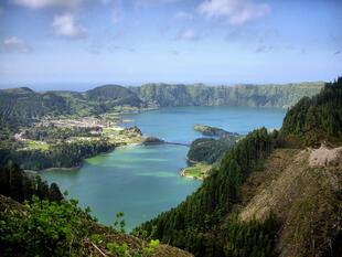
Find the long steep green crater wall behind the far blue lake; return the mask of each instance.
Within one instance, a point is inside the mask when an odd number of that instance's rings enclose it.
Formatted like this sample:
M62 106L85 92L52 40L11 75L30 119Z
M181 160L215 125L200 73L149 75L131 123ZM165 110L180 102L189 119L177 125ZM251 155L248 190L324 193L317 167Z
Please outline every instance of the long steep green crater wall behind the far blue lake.
M129 87L140 99L157 106L290 107L320 92L323 82L285 85L206 86L204 84L146 84Z

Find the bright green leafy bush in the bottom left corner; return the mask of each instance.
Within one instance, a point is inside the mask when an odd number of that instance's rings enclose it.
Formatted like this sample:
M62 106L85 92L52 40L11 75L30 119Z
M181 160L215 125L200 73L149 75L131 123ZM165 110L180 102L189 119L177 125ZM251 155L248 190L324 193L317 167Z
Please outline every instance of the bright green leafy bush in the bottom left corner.
M18 253L28 256L85 256L90 244L88 228L94 222L77 207L75 200L56 202L32 197L24 202L24 212L0 214L0 248L4 256Z

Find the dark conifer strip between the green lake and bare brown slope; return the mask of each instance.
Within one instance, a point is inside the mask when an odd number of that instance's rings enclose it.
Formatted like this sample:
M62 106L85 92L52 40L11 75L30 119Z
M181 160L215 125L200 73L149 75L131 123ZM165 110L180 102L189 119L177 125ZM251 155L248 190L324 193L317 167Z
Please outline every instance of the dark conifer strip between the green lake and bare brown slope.
M194 194L141 227L151 233L157 226L156 238L195 256L269 256L277 228L275 216L270 215L265 223L224 221L238 203L241 186L248 174L259 167L274 146L274 135L268 135L265 128L250 132L225 154L220 169L212 171ZM245 242L248 237L250 240Z

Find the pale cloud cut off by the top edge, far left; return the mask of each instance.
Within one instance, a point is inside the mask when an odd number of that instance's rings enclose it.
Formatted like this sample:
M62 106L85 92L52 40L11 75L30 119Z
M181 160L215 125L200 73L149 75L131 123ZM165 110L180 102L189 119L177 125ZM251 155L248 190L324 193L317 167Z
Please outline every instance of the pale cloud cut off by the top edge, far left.
M83 1L84 0L13 0L14 3L31 9L51 7L74 8L79 6Z

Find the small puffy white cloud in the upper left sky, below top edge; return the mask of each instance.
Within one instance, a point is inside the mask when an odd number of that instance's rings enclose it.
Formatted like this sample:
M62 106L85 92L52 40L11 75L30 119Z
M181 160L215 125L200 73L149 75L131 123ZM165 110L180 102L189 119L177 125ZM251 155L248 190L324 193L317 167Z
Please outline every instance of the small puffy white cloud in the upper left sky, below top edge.
M68 39L81 39L86 35L86 30L75 24L75 17L71 13L54 17L51 25L56 35L66 36Z

